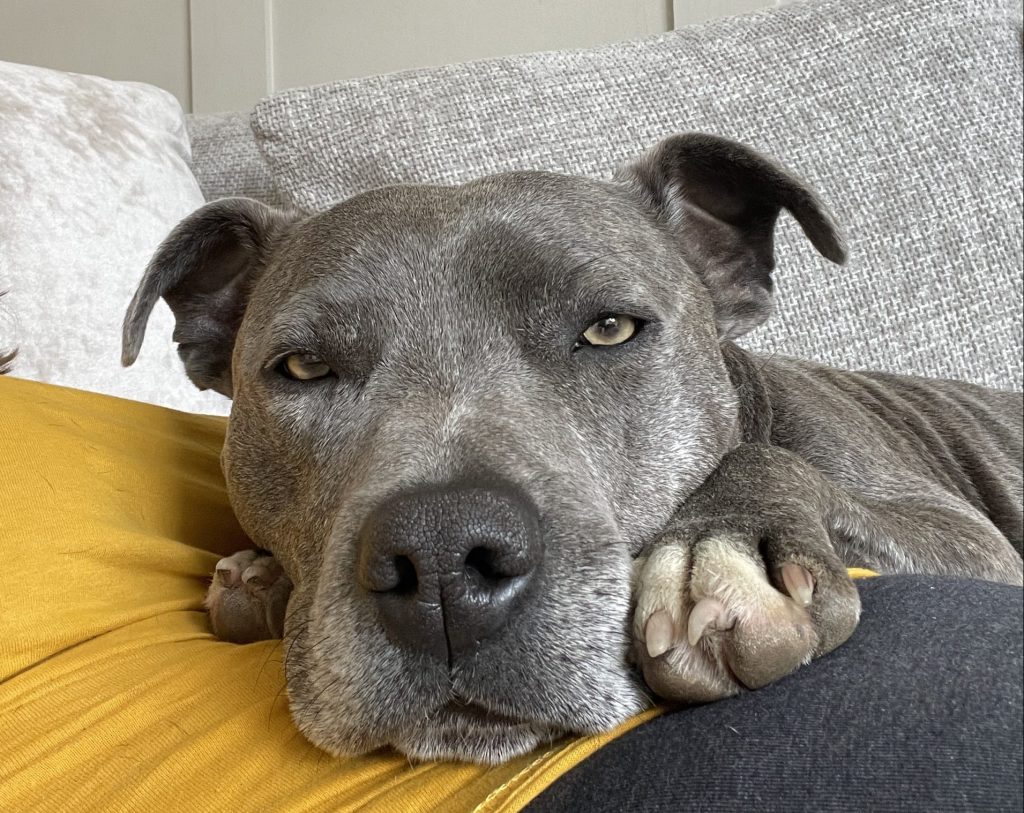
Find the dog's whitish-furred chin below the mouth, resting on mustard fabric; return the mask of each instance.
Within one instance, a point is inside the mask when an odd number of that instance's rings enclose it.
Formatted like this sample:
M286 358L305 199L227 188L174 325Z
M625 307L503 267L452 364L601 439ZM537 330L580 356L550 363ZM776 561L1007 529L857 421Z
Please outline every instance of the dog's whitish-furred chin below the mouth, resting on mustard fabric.
M500 765L568 732L546 723L519 721L482 707L449 703L391 744L417 762Z

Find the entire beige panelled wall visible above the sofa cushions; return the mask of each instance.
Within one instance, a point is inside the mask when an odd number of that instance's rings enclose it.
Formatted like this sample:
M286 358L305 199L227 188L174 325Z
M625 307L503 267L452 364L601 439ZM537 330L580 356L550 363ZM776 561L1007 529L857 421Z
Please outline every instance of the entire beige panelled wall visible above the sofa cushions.
M0 59L150 82L187 111L669 31L782 0L0 0Z

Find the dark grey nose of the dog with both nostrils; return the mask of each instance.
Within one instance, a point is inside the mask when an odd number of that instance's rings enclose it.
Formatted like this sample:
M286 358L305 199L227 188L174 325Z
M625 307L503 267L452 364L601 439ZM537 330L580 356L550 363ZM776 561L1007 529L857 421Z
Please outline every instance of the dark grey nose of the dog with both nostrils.
M528 599L543 554L537 509L515 489L436 487L370 517L358 575L391 640L454 662Z

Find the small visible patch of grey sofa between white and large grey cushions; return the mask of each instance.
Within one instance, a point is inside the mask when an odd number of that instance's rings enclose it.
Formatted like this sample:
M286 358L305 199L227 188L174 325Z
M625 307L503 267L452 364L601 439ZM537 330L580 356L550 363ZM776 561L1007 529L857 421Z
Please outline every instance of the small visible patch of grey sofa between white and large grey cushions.
M270 205L285 203L256 148L248 116L242 113L189 116L187 127L193 174L206 200L241 195Z

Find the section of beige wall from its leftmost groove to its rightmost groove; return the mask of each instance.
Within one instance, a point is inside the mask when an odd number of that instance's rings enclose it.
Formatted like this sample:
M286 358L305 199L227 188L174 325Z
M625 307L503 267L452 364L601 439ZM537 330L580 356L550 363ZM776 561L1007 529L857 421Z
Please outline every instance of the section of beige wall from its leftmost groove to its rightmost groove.
M672 28L672 0L190 0L194 109L411 68ZM231 75L224 75L225 66Z

